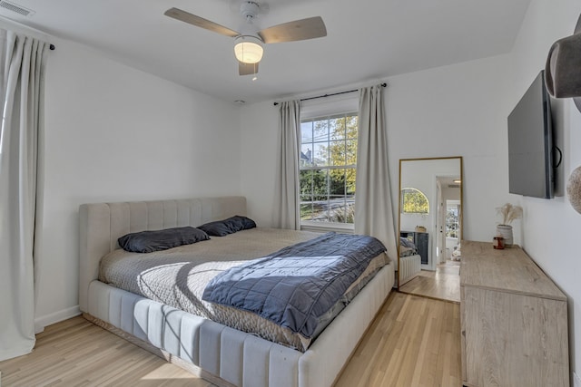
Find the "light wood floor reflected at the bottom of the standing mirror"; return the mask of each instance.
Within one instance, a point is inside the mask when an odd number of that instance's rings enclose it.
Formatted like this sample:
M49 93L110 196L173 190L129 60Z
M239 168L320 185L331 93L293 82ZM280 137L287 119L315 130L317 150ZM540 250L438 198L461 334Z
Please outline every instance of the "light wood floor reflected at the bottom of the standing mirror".
M409 295L460 302L460 262L447 260L439 264L436 271L422 270L419 275L399 287L399 291Z

